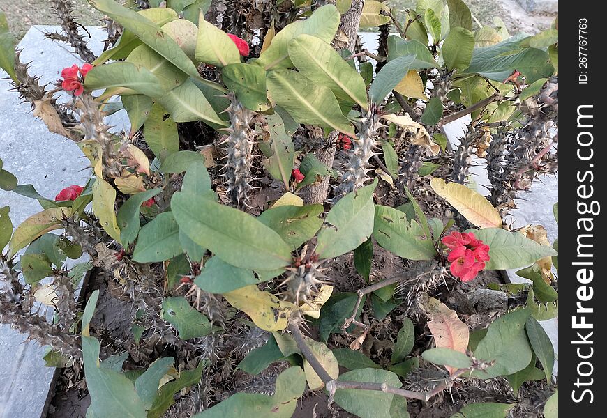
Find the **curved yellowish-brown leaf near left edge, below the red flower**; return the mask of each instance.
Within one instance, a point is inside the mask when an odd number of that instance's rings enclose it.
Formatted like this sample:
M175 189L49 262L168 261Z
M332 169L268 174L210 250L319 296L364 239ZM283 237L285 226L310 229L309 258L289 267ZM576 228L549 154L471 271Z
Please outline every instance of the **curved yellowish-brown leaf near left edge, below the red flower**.
M25 219L17 226L13 238L8 242L8 258L12 258L17 251L48 231L61 228L61 218L71 215L71 208L50 208Z

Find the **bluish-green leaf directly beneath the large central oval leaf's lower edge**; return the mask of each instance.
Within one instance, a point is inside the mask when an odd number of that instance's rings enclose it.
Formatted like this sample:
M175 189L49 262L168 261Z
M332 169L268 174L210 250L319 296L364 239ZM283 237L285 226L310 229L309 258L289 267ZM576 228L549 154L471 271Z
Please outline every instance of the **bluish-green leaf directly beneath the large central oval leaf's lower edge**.
M203 291L226 293L260 281L255 278L253 271L234 267L219 257L212 257L194 282Z

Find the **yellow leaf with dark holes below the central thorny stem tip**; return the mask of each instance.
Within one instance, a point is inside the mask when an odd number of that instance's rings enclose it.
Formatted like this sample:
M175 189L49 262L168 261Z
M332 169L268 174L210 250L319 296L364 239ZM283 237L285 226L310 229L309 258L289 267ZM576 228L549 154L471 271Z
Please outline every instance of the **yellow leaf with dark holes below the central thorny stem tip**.
M257 327L266 331L284 330L291 312L297 309L292 303L260 291L254 284L222 295L234 308L250 316Z

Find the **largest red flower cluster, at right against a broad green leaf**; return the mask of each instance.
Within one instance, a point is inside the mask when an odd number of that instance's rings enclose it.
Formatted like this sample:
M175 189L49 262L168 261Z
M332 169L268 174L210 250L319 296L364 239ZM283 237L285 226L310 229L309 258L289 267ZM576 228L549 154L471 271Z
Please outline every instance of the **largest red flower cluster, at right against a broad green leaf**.
M449 270L461 281L470 281L477 277L489 261L489 246L477 240L474 233L452 232L442 239L442 243L451 251L447 260L451 263Z

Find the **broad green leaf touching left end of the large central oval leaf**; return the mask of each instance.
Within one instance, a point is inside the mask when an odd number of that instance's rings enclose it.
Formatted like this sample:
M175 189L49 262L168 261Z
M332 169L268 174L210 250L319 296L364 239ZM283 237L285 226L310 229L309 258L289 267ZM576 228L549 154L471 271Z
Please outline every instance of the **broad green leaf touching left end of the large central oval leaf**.
M181 253L179 226L171 212L163 212L141 229L133 251L133 261L156 263Z

